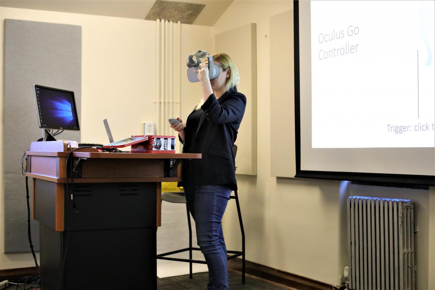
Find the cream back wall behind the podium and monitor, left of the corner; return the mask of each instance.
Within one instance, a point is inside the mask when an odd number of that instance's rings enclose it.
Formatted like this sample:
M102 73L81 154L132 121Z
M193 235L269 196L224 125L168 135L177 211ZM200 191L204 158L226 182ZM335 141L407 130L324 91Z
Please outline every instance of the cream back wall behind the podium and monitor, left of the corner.
M155 21L1 7L0 140L3 140L4 121L5 18L74 24L82 27L81 142L108 143L102 122L104 118L108 119L115 140L141 134L141 124L145 121L154 121ZM211 27L182 24L181 35L181 117L187 118L187 114L201 98L201 88L197 83L188 82L184 59L198 49L211 50L213 33ZM176 67L175 63L173 65ZM32 95L29 97L33 98ZM1 148L3 147L0 146L0 151ZM3 151L0 152L0 269L33 267L30 253L3 253L2 158Z

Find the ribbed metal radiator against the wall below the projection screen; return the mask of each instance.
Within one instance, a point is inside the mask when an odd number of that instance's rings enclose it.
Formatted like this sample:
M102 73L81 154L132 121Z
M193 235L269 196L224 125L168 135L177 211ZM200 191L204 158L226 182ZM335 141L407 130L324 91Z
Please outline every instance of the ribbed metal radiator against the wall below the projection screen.
M348 198L348 288L415 289L412 200Z

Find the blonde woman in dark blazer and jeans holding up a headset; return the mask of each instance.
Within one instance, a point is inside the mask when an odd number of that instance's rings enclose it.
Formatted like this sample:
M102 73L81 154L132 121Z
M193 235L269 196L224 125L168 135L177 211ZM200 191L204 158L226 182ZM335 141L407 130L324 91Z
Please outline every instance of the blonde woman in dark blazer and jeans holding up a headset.
M233 145L246 97L237 91L240 77L231 58L216 53L213 61L221 69L219 77L210 80L207 64L201 63L197 72L202 99L186 123L171 127L178 132L184 153L202 153L202 159L184 161L183 186L197 243L207 262L207 289L221 290L229 289L222 217L231 191L237 190Z

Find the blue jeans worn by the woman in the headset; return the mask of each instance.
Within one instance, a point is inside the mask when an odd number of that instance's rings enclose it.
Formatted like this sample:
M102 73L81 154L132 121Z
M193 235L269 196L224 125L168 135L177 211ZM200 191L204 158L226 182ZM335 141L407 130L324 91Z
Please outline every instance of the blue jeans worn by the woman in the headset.
M231 189L225 185L190 186L184 187L184 194L195 221L198 246L207 262L207 289L230 289L222 217Z

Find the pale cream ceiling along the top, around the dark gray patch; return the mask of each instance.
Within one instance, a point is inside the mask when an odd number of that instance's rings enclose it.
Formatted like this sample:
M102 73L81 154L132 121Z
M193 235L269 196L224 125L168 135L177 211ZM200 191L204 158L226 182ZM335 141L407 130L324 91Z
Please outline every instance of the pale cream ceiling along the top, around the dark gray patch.
M172 0L205 5L192 24L213 26L234 0ZM145 19L156 0L1 0L1 7ZM157 3L158 4L158 3ZM177 5L173 6L177 9ZM179 5L178 5L179 7ZM174 15L178 11L170 11ZM167 14L168 11L165 11ZM169 13L171 14L171 13ZM172 20L172 19L169 19ZM174 19L176 20L176 19Z

